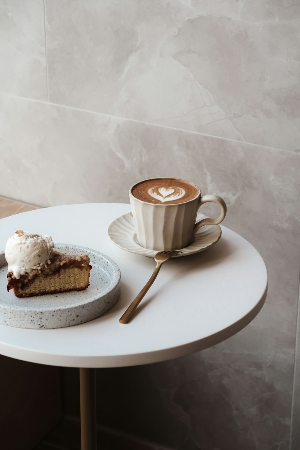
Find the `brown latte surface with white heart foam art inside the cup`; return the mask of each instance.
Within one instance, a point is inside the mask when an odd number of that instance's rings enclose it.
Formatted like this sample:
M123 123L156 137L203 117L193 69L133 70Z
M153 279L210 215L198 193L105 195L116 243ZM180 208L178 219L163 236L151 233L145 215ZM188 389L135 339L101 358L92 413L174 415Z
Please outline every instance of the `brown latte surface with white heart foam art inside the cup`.
M137 183L132 195L143 202L156 204L176 204L197 197L199 189L192 183L178 178L153 178Z

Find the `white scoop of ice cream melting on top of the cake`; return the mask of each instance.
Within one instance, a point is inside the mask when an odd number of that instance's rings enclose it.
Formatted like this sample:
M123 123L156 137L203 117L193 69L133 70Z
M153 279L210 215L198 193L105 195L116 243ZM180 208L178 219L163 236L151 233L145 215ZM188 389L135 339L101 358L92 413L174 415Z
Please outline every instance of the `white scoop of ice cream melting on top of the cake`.
M50 253L54 248L51 236L47 234L29 233L17 230L9 238L5 247L5 258L9 266L9 272L13 272L15 278L31 272L33 269L40 269L49 264Z

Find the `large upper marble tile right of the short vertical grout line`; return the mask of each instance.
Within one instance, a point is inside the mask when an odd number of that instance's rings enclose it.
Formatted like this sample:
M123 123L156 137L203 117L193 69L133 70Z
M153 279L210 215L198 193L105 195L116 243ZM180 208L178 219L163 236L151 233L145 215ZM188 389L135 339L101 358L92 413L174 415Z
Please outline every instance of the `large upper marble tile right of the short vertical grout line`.
M299 2L45 4L51 102L299 149Z

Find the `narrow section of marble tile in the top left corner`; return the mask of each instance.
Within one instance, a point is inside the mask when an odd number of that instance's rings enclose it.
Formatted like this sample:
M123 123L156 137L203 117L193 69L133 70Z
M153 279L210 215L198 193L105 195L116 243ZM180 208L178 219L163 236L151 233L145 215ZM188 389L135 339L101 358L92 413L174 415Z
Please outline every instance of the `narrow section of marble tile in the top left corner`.
M0 93L47 100L43 0L0 0Z

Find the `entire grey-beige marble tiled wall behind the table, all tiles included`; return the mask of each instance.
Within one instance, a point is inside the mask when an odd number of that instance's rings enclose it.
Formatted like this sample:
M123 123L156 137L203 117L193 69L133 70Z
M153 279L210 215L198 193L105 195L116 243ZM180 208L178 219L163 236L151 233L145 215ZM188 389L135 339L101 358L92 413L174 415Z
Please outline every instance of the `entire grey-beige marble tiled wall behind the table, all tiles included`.
M99 423L178 450L299 450L300 4L36 3L0 0L0 194L128 202L135 181L186 178L224 197L224 225L269 271L266 305L233 338L99 371Z

